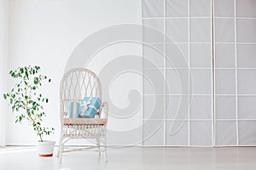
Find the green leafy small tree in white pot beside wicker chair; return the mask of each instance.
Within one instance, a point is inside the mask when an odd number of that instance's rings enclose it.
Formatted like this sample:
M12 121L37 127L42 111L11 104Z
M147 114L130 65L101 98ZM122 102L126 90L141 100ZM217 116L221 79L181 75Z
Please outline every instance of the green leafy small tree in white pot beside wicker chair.
M3 98L9 101L12 111L16 114L15 123L27 120L38 135L39 156L52 156L54 141L43 140L44 135L54 132L53 127L42 125L45 116L44 104L49 99L39 93L42 82L50 82L50 79L40 74L40 66L28 65L9 71L10 77L16 80L14 88Z

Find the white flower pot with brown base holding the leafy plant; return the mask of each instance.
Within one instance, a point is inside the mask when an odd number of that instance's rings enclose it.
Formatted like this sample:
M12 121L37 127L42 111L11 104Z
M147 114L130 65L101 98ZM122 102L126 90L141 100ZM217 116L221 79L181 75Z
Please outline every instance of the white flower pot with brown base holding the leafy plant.
M55 141L45 140L44 142L38 141L38 154L39 156L53 156Z

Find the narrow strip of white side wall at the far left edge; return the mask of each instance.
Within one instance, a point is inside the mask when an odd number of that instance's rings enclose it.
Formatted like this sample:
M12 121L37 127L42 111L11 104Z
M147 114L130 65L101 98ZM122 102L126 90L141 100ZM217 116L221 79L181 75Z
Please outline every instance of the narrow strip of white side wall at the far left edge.
M5 144L5 121L7 104L3 102L6 89L8 54L8 11L9 1L0 0L0 145Z

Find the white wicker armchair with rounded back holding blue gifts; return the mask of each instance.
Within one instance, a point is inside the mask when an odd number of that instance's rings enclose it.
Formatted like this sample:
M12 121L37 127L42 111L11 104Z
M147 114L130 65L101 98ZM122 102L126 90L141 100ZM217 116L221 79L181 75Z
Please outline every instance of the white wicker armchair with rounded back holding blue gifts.
M101 140L104 143L104 158L107 160L107 123L108 102L103 102L96 118L68 118L68 105L71 101L82 101L84 97L98 97L102 99L102 86L96 74L85 68L76 68L67 73L61 79L60 89L60 116L61 116L61 138L58 150L59 162L63 152L66 150L64 144L70 139L96 139L99 156L101 155ZM104 114L103 114L104 113ZM83 150L83 149L79 149Z

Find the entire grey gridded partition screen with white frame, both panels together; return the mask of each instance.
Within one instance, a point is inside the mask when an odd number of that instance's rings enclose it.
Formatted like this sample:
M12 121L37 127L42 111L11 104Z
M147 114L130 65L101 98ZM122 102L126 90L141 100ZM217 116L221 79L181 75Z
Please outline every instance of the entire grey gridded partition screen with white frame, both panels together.
M256 144L255 11L253 0L143 0L143 25L162 33L143 30L143 145Z

